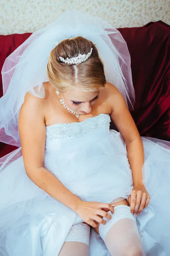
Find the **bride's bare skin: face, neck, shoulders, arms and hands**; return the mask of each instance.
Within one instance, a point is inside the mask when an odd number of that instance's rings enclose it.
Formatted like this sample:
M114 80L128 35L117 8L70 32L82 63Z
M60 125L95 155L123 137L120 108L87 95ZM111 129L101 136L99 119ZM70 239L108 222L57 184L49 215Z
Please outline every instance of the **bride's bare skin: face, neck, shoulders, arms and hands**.
M150 196L142 183L141 169L144 164L144 149L138 129L121 93L110 83L107 83L104 89L95 92L82 92L77 86L69 93L62 93L60 96L65 104L80 114L79 118L76 118L75 115L63 108L59 96L55 93L56 89L49 82L45 82L43 85L45 98L40 99L27 93L19 115L23 161L28 177L49 195L74 210L85 223L92 226L98 233L99 224L106 224L103 217L110 219L111 215L107 212L114 212L112 202L103 204L82 201L66 189L55 175L45 169L43 162L46 126L56 123L82 122L89 117L106 113L110 115L127 145L134 186L129 197L129 204L127 200L123 200L114 205L130 205L131 212L139 214L150 201ZM98 99L95 98L97 95ZM72 101L81 103L74 105Z

